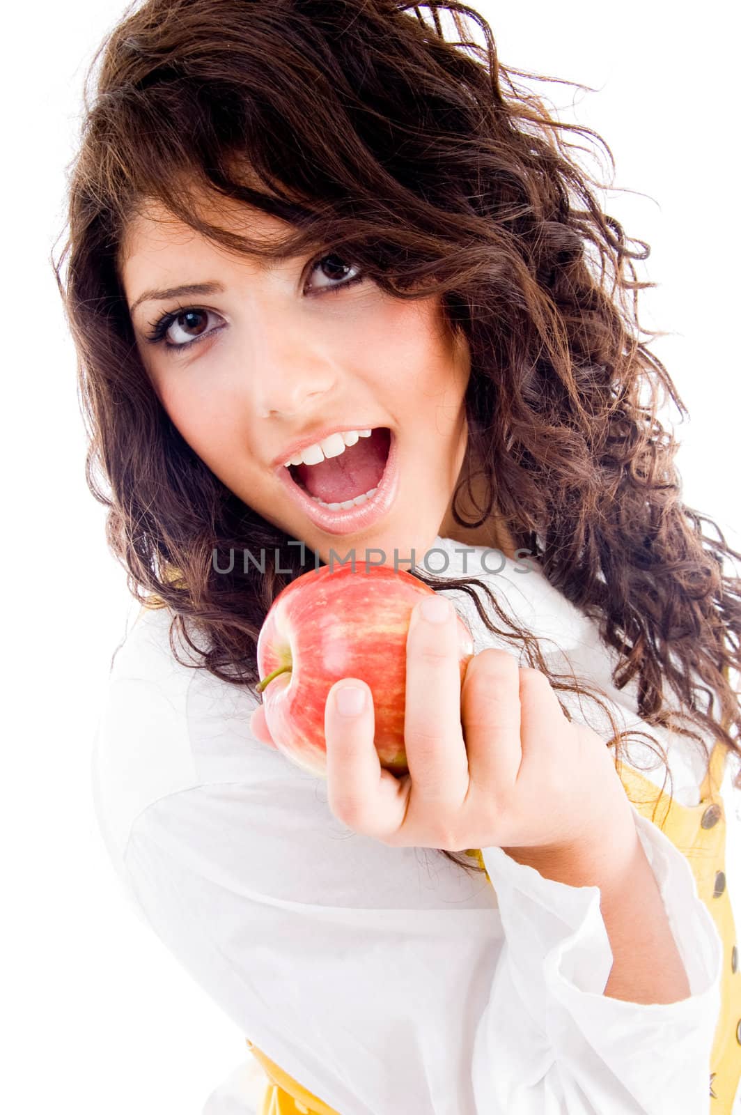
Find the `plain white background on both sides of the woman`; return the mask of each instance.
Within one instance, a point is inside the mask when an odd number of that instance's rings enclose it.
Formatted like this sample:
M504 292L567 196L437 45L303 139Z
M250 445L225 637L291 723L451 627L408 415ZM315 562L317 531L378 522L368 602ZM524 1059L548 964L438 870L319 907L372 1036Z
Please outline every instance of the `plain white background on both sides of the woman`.
M652 245L642 323L692 423L677 427L684 500L741 549L738 25L669 3L488 3L507 65L597 91L540 86L563 119L612 147L607 210ZM197 1115L245 1057L233 1024L124 903L98 835L89 758L130 598L84 482L75 352L49 253L94 48L116 0L14 4L4 20L3 518L7 1111ZM576 142L582 142L576 139ZM591 164L596 169L595 164ZM669 415L671 421L675 411ZM9 621L9 622L8 622ZM9 721L9 723L8 723Z

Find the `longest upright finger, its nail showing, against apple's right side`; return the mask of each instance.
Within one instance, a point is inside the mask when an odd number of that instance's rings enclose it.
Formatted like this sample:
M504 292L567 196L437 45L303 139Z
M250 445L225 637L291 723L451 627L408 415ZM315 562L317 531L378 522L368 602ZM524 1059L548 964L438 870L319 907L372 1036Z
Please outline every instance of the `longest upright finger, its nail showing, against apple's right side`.
M441 620L432 619L435 611L442 612ZM460 724L458 622L442 595L415 605L407 634L406 685L410 813L418 803L459 804L468 789L468 759Z

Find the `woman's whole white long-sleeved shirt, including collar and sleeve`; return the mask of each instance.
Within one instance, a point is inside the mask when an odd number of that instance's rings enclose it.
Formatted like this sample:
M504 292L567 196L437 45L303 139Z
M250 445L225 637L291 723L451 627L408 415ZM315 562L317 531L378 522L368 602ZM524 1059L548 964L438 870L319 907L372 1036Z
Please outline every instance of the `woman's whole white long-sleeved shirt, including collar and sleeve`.
M538 637L549 665L567 652L577 677L610 694L622 728L641 725L635 689L612 687L596 624L539 569L449 539L435 545L430 570L462 573L465 551L468 574ZM446 594L476 652L517 653L461 590ZM178 665L169 619L144 612L116 655L94 749L96 809L140 917L245 1037L340 1115L710 1112L722 943L664 833L634 809L691 996L605 997L613 957L598 888L545 879L499 847L481 850L489 885L435 850L352 832L329 809L323 779L251 735L259 698ZM593 702L569 708L601 728ZM700 753L644 728L669 750L675 797L696 804ZM644 768L650 753L633 755ZM661 768L646 776L662 784ZM733 821L728 808L729 846ZM741 925L734 870L729 857ZM237 1077L246 1093L240 1072L207 1115L254 1109L246 1094L241 1105Z

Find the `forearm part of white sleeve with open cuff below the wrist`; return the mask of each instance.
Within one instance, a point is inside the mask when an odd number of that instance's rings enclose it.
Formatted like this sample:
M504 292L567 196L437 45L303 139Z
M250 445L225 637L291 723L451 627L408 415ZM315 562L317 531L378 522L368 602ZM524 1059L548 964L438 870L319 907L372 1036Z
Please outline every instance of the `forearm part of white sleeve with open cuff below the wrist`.
M705 1115L723 948L689 863L631 805L690 983L672 1004L613 999L597 886L567 886L482 849L506 944L476 1035L477 1111Z

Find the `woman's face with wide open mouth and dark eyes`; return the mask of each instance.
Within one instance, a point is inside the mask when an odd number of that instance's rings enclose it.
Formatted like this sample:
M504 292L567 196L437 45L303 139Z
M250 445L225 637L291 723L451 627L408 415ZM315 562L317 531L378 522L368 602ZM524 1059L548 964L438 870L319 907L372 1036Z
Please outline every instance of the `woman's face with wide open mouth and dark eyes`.
M285 232L283 222L246 206L232 203L226 212L237 231L248 220L251 232ZM265 268L154 203L129 224L119 268L138 351L173 424L263 518L323 561L330 547L340 556L352 550L358 561L377 547L383 563L393 563L394 550L408 560L412 549L419 563L447 533L466 452L470 367L467 342L454 340L438 298L394 299L331 245ZM185 284L213 289L162 293ZM174 317L162 338L149 341L166 313ZM377 428L391 432L386 467L383 436L361 437L313 474L304 463L299 478L308 492L298 493L290 481L296 471L284 465L296 445ZM330 437L323 448L337 453L342 444ZM322 507L309 494L344 503L370 491L381 469L379 498L350 511Z

